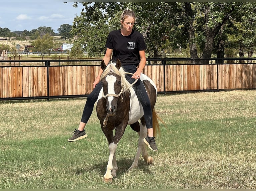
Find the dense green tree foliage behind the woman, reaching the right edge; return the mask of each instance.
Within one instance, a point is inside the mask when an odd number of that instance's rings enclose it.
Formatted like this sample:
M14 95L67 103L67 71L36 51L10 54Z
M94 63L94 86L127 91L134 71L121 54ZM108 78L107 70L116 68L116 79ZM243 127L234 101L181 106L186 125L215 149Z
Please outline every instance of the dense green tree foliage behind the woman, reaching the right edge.
M77 7L77 5L78 3L74 3L73 6ZM82 5L81 16L75 18L71 33L73 37L79 39L76 43L81 47L87 45L86 49L92 56L100 54L105 48L104 43L101 42L102 38L98 40L95 36L104 37L109 31L118 29L119 15L126 8L134 10L137 14L134 28L144 35L146 51L152 57L162 57L170 50L179 47L186 49L189 46L191 58L198 58L199 53L202 59L211 58L212 53L218 52L219 43L228 42L230 39L228 32L231 30L228 28L239 23L244 29L237 30L235 36L243 40L247 37L244 42L251 47L255 46L253 43L253 31L256 26L254 13L249 15L255 9L255 3L124 2L82 3ZM103 26L104 30L99 26ZM238 43L234 44L238 45Z

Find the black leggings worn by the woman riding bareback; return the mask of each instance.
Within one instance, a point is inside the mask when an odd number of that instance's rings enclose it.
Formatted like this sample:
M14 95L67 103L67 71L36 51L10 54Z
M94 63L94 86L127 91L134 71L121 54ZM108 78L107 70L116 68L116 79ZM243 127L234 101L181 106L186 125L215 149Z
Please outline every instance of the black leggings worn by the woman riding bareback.
M130 84L132 84L135 81L135 79L131 78L131 77L132 77L132 75L126 75L126 80ZM97 101L98 96L100 94L101 88L102 88L102 83L100 82L94 88L92 93L90 95L88 95L86 103L85 103L81 122L84 122L84 123L88 122L88 120L93 112L94 104ZM146 126L148 129L150 129L153 127L151 104L150 104L150 100L147 95L146 89L140 79L138 79L138 81L133 85L133 89L143 107Z

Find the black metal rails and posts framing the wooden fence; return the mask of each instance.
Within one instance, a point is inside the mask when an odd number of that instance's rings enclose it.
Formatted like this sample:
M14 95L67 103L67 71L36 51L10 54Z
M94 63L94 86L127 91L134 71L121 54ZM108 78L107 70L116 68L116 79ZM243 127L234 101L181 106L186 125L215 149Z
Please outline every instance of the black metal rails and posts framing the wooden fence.
M86 97L88 94L84 95L57 95L50 96L49 95L49 67L51 66L100 66L100 62L102 59L55 59L55 60L0 60L0 69L1 68L13 68L13 67L46 67L47 68L47 96L38 96L38 97L1 97L0 100L19 100L19 99L50 99L50 98L72 98L72 97ZM184 90L184 91L168 91L166 90L166 71L165 66L181 66L181 65L215 65L217 66L217 87L214 89L196 89L196 90ZM224 58L224 59L189 59L189 58L148 58L147 66L163 66L163 91L159 91L158 93L179 93L179 92L199 92L199 91L220 91L219 89L219 66L220 65L237 65L237 64L250 64L256 65L256 58ZM256 67L253 67L253 71L250 72L252 76L250 78L256 78ZM4 81L4 77L0 76L0 93L3 90L2 85ZM253 80L252 82L255 82ZM242 87L239 89L255 89L256 85L250 85L248 87ZM223 90L223 89L221 89ZM227 90L227 89L225 89Z

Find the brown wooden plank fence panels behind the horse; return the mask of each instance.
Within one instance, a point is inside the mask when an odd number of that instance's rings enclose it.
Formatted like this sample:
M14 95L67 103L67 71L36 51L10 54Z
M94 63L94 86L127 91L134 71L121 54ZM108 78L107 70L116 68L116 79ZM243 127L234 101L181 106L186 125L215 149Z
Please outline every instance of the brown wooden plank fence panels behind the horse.
M84 97L99 66L0 67L0 100ZM256 64L146 65L159 93L255 89Z

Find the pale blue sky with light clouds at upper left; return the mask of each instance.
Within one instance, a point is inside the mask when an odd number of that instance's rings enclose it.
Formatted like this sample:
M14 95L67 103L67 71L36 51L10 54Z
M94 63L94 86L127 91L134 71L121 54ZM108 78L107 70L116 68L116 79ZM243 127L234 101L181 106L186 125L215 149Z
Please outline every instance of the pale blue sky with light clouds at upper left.
M59 0L1 0L0 28L13 31L31 31L38 27L51 27L55 33L62 24L73 25L80 16L82 4L75 8L73 2ZM67 2L67 1L66 1Z

